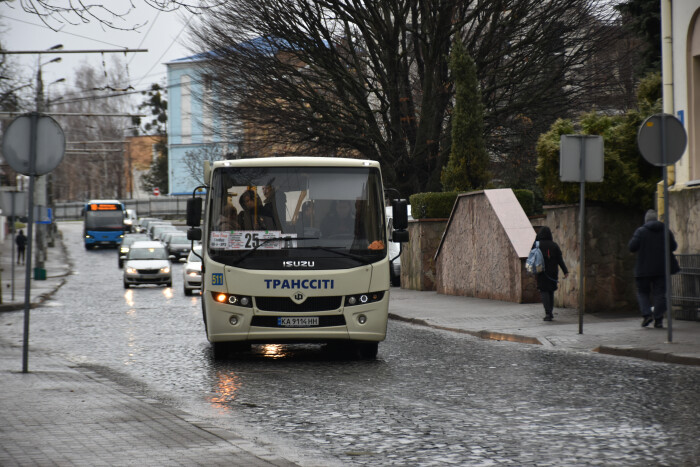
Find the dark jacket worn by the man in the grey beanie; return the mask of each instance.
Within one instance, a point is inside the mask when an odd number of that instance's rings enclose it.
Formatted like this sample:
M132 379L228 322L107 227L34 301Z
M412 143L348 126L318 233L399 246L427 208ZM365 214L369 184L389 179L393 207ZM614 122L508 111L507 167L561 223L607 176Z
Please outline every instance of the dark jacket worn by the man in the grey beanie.
M632 253L637 253L634 265L634 277L663 276L666 271L664 255L664 224L649 221L635 230L628 245ZM673 233L669 231L669 247L675 251L678 247Z

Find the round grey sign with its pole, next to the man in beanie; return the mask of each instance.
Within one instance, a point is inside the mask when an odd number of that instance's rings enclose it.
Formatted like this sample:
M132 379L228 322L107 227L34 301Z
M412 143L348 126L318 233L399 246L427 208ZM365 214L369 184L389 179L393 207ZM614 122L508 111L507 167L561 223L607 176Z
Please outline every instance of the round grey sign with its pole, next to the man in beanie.
M664 257L666 282L666 316L668 341L673 342L673 310L671 309L671 236L668 223L668 166L678 162L685 152L688 135L683 124L670 114L654 114L642 122L637 134L637 146L644 159L664 168Z

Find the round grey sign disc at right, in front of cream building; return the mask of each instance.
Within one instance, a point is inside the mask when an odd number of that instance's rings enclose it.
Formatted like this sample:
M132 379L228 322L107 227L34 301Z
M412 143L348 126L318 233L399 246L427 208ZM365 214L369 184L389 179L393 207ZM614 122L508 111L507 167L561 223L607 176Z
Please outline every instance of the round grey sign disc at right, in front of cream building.
M647 118L637 134L637 146L642 156L657 167L678 162L687 142L683 124L669 114L655 114Z

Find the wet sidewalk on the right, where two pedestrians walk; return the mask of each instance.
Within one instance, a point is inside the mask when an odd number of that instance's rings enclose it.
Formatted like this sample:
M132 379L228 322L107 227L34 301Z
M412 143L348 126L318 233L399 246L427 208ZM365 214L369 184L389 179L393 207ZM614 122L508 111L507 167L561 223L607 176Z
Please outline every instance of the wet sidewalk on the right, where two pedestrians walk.
M672 342L664 329L641 327L641 317L586 314L579 334L578 310L555 308L554 321L542 321L541 304L521 304L391 289L389 316L483 339L636 357L657 362L700 365L700 321L674 319Z

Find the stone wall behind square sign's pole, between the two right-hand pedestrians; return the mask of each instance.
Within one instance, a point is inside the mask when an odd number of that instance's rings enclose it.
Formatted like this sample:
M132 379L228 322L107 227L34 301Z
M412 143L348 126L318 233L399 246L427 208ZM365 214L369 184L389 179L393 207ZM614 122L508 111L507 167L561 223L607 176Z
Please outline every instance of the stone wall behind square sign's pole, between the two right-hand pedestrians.
M559 244L569 277L559 277L554 302L559 307L578 308L579 206L545 206L545 218L533 220L535 228L546 225ZM637 312L634 284L634 254L627 244L643 224L644 212L630 208L586 205L586 305L587 313L600 311Z

